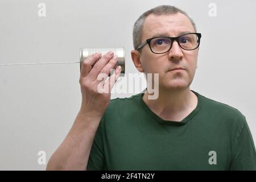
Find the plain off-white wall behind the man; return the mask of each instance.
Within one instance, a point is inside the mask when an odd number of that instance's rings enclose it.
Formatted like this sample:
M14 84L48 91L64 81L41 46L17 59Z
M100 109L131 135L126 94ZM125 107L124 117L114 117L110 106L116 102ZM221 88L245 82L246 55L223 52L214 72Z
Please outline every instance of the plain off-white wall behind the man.
M41 2L46 17L38 16ZM212 2L216 17L208 14ZM202 34L191 89L240 110L255 141L253 0L1 0L0 64L79 61L82 47L125 47L126 73L139 73L130 57L133 24L158 5L187 11ZM79 76L79 64L0 67L0 169L46 169L38 152L46 151L48 162L71 128L81 104Z

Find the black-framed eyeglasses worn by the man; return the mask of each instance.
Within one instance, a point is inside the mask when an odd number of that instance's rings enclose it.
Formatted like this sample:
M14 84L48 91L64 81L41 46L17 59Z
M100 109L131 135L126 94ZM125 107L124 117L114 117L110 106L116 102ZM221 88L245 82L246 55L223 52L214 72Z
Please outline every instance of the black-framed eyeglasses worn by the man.
M193 49L199 47L200 39L200 33L188 33L176 37L156 36L154 38L147 39L136 50L138 51L142 47L146 46L146 44L148 44L150 50L153 53L166 53L170 51L172 44L176 40L180 48L183 48L187 51L192 51Z

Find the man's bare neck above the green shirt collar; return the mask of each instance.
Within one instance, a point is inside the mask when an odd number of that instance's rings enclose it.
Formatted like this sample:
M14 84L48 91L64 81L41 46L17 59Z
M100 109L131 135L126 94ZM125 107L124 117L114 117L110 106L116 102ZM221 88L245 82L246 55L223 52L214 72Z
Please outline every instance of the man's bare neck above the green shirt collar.
M159 89L156 100L148 100L149 93L143 95L143 101L159 117L181 121L197 106L197 96L189 88L179 91Z

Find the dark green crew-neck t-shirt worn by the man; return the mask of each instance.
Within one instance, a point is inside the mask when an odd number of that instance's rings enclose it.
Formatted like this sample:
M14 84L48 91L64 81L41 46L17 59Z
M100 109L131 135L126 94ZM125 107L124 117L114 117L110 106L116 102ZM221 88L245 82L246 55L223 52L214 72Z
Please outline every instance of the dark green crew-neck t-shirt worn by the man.
M196 108L166 121L142 100L143 92L115 98L101 118L88 170L256 170L245 116L191 90Z

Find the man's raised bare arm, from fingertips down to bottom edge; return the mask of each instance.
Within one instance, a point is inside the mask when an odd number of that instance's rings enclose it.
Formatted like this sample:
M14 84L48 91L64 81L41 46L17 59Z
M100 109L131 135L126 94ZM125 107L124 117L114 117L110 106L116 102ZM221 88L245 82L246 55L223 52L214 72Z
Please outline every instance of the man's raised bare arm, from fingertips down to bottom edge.
M97 79L98 75L105 73L105 78L108 77L110 69L117 64L117 57L113 57L110 52L97 61L99 57L96 53L82 64L79 80L82 93L81 109L67 137L49 159L47 170L85 170L87 167L94 136L109 105L110 91L121 73L121 67L118 66L109 80L102 84L102 81ZM94 63L96 64L92 68ZM106 84L109 85L106 87L108 90L105 90L108 92L98 92L98 86L104 88Z

